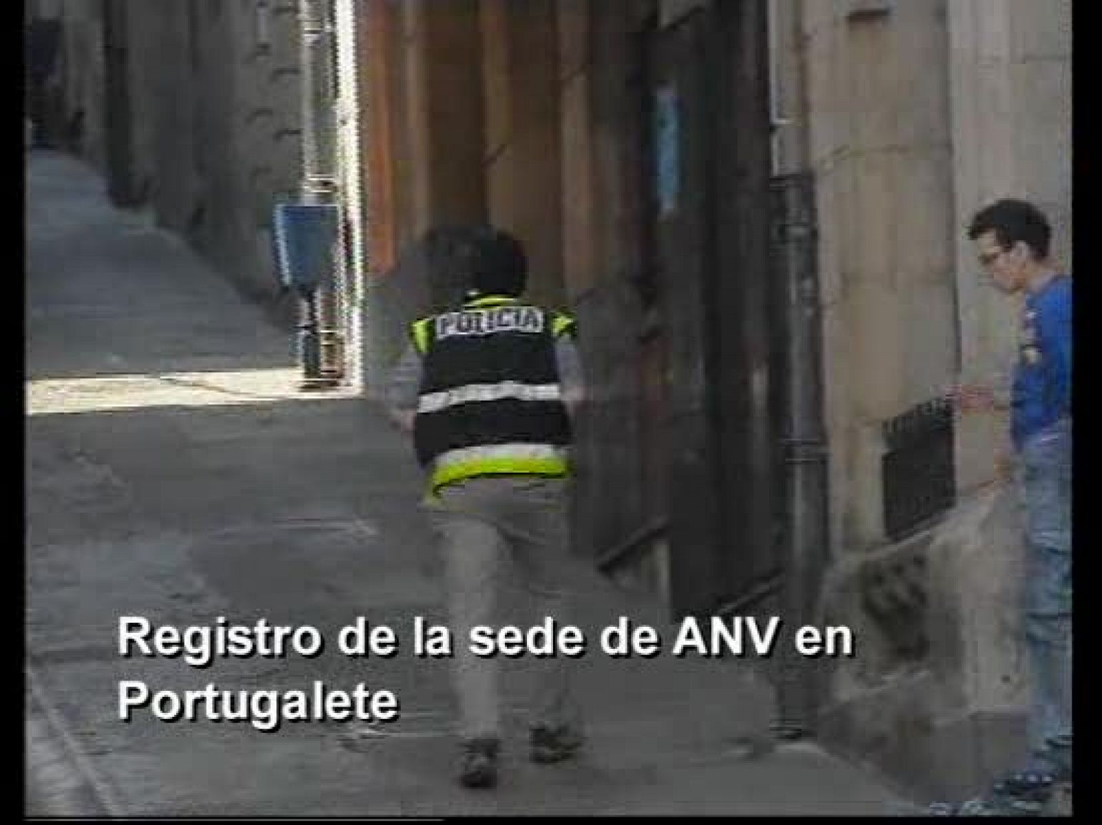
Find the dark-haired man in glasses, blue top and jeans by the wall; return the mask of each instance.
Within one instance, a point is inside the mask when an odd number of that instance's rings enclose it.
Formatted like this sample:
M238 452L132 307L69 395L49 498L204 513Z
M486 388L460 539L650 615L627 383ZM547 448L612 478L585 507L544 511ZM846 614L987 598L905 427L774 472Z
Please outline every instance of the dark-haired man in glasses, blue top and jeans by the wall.
M1034 695L1029 759L996 795L1040 801L1071 772L1071 276L1049 258L1051 228L1033 204L997 200L976 213L968 236L995 285L1025 296L1011 439L1026 510L1023 618ZM990 388L965 388L973 408L993 403Z

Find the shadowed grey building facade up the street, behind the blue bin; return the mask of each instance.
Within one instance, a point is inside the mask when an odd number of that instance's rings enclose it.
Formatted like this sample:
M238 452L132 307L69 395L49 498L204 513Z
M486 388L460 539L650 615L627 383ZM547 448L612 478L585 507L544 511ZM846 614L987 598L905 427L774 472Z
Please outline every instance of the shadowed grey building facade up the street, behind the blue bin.
M247 293L293 315L273 204L301 176L298 3L56 0L71 145L120 206L185 235Z

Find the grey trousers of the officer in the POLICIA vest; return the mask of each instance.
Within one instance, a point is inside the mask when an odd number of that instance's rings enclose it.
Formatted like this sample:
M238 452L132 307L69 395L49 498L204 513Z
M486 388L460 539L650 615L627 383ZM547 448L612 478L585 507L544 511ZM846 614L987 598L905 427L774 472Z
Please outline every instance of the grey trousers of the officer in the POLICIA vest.
M565 479L536 476L472 478L424 502L440 536L463 738L501 735L499 660L469 651L471 628L510 623L523 629L548 616L560 626L576 623L563 576L570 552L566 485ZM529 615L497 622L498 583L508 563L517 565ZM525 655L534 685L529 724L577 725L570 685L573 660Z

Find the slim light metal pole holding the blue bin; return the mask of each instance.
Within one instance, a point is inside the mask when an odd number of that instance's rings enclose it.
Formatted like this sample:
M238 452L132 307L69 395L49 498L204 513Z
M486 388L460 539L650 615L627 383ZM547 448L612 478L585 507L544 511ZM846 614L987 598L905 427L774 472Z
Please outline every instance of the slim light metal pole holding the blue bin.
M300 0L302 26L302 199L307 204L336 200L336 122L332 75L333 25L329 0ZM335 272L303 303L304 326L317 332L321 374L314 387L333 387L342 379L341 313Z

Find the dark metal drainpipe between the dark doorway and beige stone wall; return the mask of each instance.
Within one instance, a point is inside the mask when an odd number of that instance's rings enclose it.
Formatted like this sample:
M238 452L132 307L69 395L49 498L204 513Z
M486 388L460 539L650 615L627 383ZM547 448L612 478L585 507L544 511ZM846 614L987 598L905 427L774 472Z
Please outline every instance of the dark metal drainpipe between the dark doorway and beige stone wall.
M770 63L781 55L775 34L778 0L770 10ZM799 7L789 7L799 14ZM787 120L777 111L779 70L773 73L774 129L795 126L801 130L798 155L785 164L782 141L774 152L774 260L779 265L782 289L784 347L784 495L786 500L787 575L784 609L790 630L818 620L817 606L829 555L827 435L823 422L822 326L818 268L818 221L814 209L814 174L807 163L806 72L798 67L795 91L800 117ZM797 171L779 174L785 166ZM781 308L778 307L778 308ZM821 697L821 669L817 660L785 645L777 681L778 718L775 732L786 739L811 736L817 729Z

